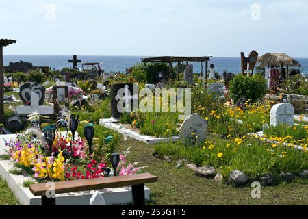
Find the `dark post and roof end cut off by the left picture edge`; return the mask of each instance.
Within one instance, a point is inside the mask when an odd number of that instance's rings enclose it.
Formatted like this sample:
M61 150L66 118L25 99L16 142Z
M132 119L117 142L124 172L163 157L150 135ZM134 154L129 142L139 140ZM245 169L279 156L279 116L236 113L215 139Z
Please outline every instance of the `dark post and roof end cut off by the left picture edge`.
M4 75L3 75L3 47L16 43L17 40L0 39L0 123L4 122Z

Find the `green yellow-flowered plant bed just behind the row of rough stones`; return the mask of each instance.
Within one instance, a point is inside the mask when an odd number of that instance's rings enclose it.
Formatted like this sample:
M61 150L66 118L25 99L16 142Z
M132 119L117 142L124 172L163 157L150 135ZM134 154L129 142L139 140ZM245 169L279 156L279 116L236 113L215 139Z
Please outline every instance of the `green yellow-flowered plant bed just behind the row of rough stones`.
M157 153L173 159L186 159L198 166L211 165L228 177L231 170L244 172L251 180L261 175L280 172L294 172L308 168L308 154L290 147L262 143L256 139L245 138L238 145L234 140L222 140L209 136L201 146L184 146L181 143L157 144ZM218 154L222 153L222 157Z

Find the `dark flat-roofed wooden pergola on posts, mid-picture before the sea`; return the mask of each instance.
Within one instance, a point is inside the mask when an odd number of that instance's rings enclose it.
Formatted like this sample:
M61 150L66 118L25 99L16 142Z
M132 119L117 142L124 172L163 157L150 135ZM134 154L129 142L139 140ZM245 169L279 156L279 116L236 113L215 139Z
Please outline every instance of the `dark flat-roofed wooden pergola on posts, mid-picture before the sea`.
M146 62L166 62L169 63L169 74L168 79L171 79L172 75L172 63L182 64L182 72L184 71L183 66L184 62L188 64L188 62L200 62L201 64L201 77L203 77L203 62L205 63L205 78L207 78L207 69L208 62L212 56L159 56L159 57L146 57L142 58L142 63ZM179 72L179 70L178 70ZM177 79L179 80L179 74L177 75Z

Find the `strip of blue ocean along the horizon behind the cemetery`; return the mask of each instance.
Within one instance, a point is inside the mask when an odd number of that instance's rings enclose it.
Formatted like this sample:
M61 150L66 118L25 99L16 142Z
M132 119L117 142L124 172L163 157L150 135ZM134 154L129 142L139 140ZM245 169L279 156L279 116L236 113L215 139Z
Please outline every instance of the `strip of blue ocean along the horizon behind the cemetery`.
M77 55L77 59L84 62L99 62L105 72L125 72L126 68L130 68L134 64L141 62L141 58L145 56L92 56L92 55ZM51 66L55 70L59 70L64 67L72 67L72 63L68 60L72 59L72 55L4 55L4 65L7 66L9 62L32 62L34 66ZM302 65L300 70L305 75L308 75L308 58L296 58ZM198 73L201 70L200 63L192 62L194 65L194 73ZM224 70L232 73L240 73L241 61L240 57L211 57L209 64L214 64L214 70L220 74ZM81 64L77 65L81 68ZM204 70L203 65L203 70Z

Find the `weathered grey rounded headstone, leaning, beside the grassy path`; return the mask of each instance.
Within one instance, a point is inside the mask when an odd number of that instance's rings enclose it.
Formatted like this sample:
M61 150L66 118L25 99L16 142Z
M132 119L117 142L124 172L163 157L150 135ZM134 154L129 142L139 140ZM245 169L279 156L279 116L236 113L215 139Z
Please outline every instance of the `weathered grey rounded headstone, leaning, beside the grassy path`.
M207 121L198 114L185 118L179 128L179 140L184 144L199 144L207 136Z

